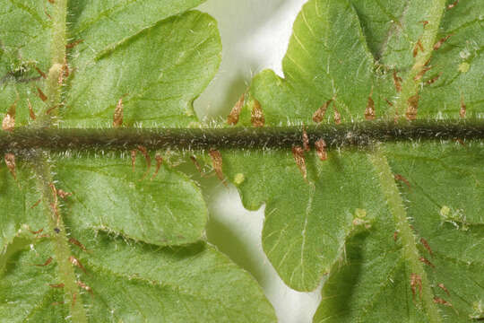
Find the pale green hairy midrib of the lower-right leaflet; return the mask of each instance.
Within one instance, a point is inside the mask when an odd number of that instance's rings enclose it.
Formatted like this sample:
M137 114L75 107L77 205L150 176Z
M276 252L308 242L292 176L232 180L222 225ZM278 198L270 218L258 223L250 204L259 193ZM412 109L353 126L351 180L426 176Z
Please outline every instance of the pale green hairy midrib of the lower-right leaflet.
M402 196L400 196L400 192L395 184L390 165L388 165L385 155L380 150L376 150L375 153L370 154L369 159L378 173L382 193L385 196L390 213L393 214L395 226L402 241L403 258L410 265L411 273L418 275L421 281L421 293L419 296L421 296L428 320L431 323L442 322L442 318L434 303L434 294L430 288L427 273L423 268L422 262L419 260L420 256L419 250L417 249L417 242L411 231L410 223L407 220L407 212L403 206ZM409 286L410 284L411 277L409 277ZM416 287L416 290L419 291L419 288Z

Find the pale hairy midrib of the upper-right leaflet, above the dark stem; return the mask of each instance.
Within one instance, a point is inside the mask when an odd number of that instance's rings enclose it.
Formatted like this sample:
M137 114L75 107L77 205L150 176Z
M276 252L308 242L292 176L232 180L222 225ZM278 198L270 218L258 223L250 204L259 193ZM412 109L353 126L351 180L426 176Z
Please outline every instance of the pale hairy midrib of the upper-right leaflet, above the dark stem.
M416 79L416 77L426 68L434 52L438 29L445 13L445 0L431 0L428 12L428 24L424 27L425 30L419 39L423 51L419 51L417 57L415 57L415 63L405 80L403 80L402 92L395 102L395 110L399 116L405 113L411 97L419 94L421 80Z

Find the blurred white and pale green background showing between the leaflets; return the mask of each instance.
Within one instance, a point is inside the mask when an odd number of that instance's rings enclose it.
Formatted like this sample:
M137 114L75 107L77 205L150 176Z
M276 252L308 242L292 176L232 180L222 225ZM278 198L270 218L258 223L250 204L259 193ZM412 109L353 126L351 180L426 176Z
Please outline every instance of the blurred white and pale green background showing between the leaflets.
M227 116L252 76L265 68L282 75L281 60L292 23L306 0L208 0L198 9L219 22L223 44L220 71L195 101L200 117ZM208 240L261 284L281 323L312 321L319 291L296 292L282 283L261 246L264 207L248 212L235 188L218 185L207 194Z

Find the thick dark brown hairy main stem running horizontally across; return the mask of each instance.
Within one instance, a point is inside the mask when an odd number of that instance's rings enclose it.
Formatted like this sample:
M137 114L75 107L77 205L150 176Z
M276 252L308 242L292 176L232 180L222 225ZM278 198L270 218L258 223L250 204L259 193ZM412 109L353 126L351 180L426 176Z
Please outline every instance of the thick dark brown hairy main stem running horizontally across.
M328 148L363 147L398 141L484 139L484 120L417 120L414 122L359 122L340 126L306 127L309 144L324 139ZM303 127L229 128L107 128L29 129L0 133L0 152L36 148L63 150L148 149L288 149L302 143Z

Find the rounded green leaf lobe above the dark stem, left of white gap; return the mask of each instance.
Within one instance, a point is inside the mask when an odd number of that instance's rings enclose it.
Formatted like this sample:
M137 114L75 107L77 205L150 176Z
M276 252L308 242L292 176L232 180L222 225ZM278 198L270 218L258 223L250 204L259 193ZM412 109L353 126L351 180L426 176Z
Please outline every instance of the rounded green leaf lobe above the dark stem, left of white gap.
M98 58L82 43L70 81L62 127L112 127L123 98L124 123L190 127L192 103L220 65L217 23L189 12L130 35Z

